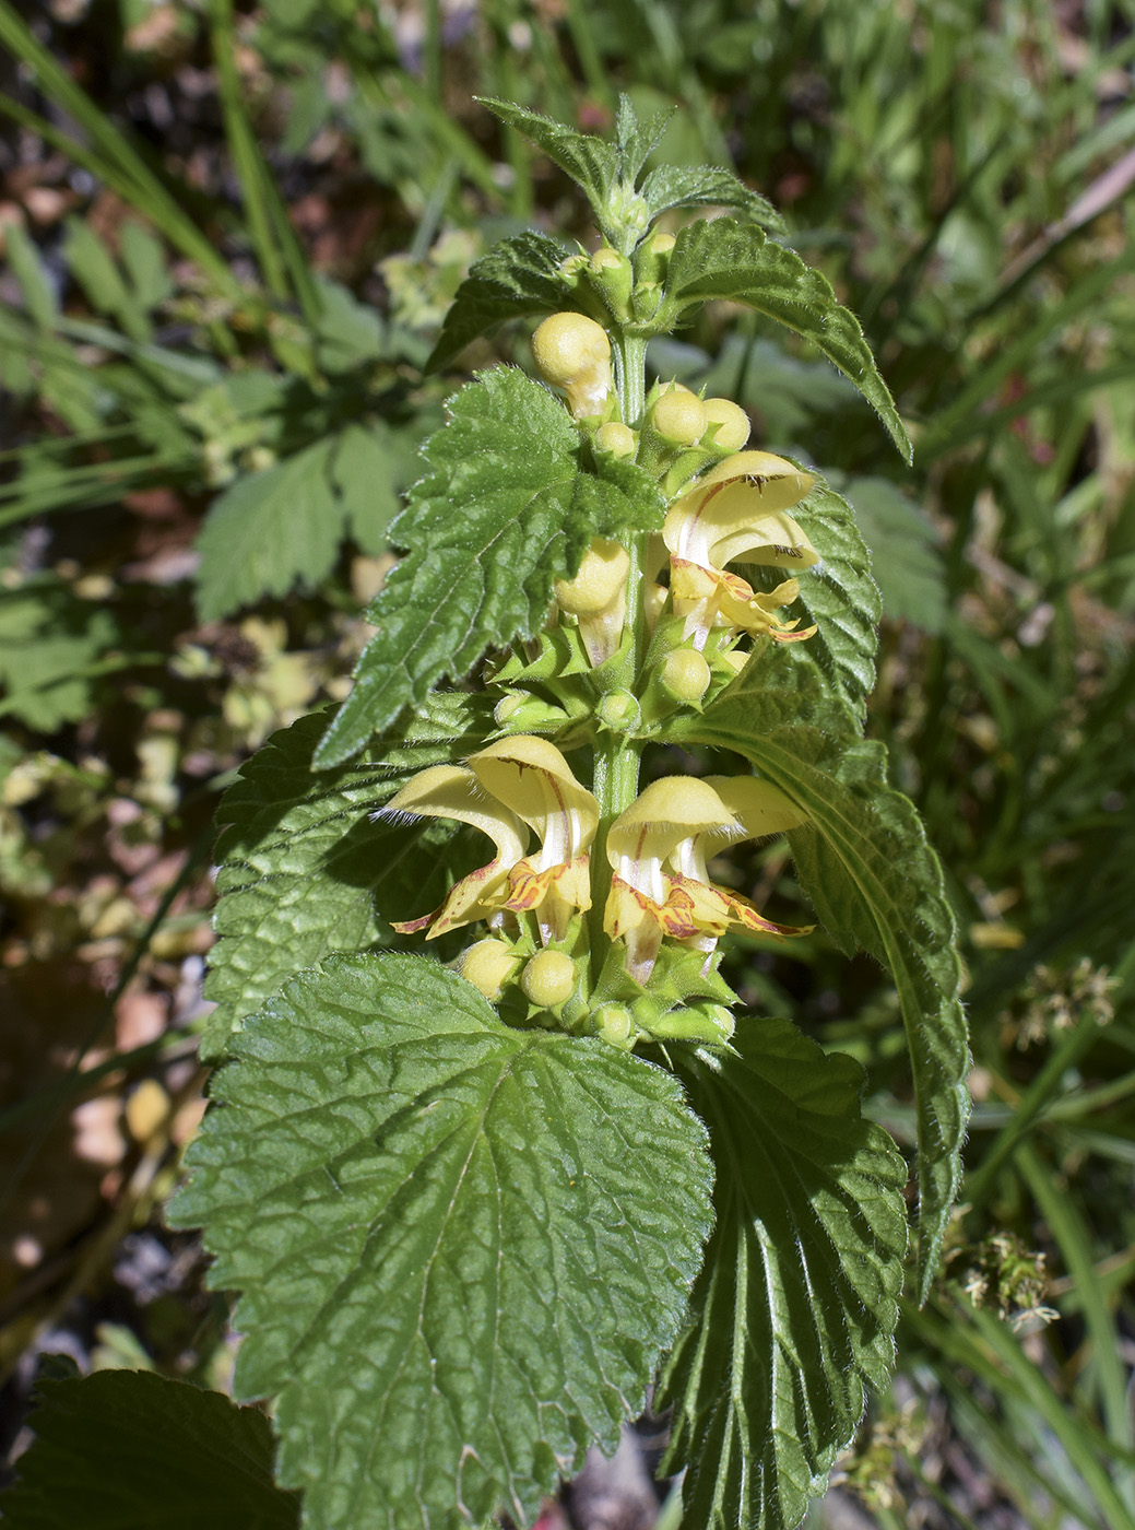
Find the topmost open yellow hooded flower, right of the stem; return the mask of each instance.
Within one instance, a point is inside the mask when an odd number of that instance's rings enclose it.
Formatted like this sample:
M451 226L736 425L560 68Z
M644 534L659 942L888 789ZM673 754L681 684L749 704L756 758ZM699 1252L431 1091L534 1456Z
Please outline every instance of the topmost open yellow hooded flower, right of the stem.
M670 552L670 594L675 614L685 617L684 635L704 647L710 627L766 632L779 643L809 638L815 627L794 630L777 610L795 600L800 586L785 580L759 594L737 574L734 558L771 568L806 569L820 562L803 529L788 514L815 479L768 451L739 451L705 473L670 506L662 540Z

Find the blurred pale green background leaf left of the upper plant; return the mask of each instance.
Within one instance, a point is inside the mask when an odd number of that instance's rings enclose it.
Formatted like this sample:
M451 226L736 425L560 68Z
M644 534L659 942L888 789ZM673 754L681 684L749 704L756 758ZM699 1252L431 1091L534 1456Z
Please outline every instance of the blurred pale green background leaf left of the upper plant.
M335 565L343 503L327 465L335 439L237 479L216 499L197 537L197 615L228 617L297 581L318 584Z

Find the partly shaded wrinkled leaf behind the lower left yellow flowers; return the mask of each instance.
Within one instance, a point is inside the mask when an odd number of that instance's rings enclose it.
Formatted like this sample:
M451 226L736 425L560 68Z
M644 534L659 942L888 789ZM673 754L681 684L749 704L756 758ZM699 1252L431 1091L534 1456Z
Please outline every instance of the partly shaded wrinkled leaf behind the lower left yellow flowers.
M387 944L389 920L416 918L445 895L445 860L427 851L424 826L372 814L415 771L482 745L493 727L488 707L474 696L431 696L427 718L399 737L314 776L324 727L326 718L312 715L277 733L217 811L220 901L205 982L217 1008L200 1039L207 1062L300 968L330 952Z

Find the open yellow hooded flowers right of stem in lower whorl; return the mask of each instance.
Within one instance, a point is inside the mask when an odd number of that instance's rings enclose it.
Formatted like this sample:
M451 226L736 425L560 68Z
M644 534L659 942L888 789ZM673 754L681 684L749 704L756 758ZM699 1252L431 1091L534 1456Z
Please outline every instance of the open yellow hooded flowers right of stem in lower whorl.
M652 782L607 831L613 875L607 935L627 941L627 970L646 981L662 936L711 952L730 926L803 935L766 920L748 898L710 881L708 848L795 828L805 815L771 782L754 777Z

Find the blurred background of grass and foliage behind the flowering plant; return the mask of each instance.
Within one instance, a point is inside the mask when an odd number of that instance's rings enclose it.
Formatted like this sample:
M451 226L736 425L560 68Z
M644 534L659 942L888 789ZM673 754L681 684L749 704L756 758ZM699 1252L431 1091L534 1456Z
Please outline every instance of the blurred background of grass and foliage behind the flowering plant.
M913 471L826 363L711 304L655 369L854 502L870 731L970 973L965 1206L815 1525L1135 1525L1135 6L1130 0L0 0L0 1366L223 1386L161 1222L202 1103L211 815L346 693L424 373L497 237L589 243L477 93L731 164L864 323ZM1124 739L1129 742L1124 744ZM779 846L733 875L794 916ZM869 1068L893 994L818 938L745 999ZM20 1443L18 1421L9 1435ZM26 1438L26 1437L24 1437Z

